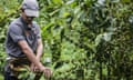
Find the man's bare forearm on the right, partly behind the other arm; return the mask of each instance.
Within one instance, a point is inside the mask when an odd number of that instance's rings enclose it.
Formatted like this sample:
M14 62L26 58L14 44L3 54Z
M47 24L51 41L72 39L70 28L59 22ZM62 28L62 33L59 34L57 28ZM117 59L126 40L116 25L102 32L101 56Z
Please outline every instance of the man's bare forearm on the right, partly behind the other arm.
M37 59L40 61L41 56L42 56L42 51L43 51L43 43L41 38L38 39L38 48L37 48Z

